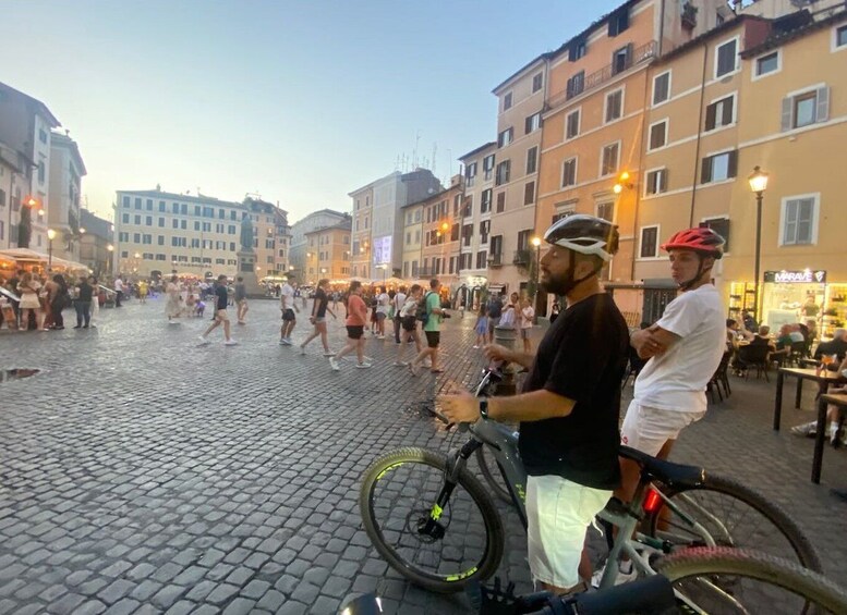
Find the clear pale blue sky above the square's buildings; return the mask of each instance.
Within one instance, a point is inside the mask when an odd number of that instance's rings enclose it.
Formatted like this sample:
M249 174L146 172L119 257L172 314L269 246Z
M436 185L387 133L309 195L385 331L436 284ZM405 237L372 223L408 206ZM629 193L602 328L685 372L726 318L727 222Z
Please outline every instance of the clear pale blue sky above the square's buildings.
M294 222L349 210L415 143L458 172L496 138L491 90L621 1L2 0L0 81L76 139L100 216L158 183Z

